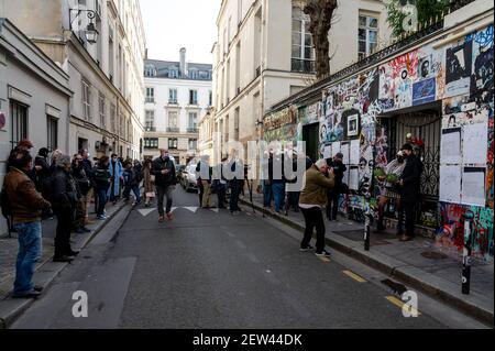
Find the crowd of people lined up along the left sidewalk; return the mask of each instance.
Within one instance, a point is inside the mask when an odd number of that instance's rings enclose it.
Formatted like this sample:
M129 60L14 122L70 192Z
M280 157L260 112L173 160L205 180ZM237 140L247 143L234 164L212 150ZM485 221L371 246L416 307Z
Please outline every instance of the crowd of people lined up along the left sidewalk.
M91 161L88 150L70 157L42 147L33 157L33 147L31 141L22 140L11 151L1 191L2 213L19 239L13 297L20 298L41 294L32 278L42 254L42 220L57 220L53 261L74 261L79 251L72 248L70 237L91 232L87 228L91 200L101 221L108 219L107 204L117 205L121 198L130 201L131 191L134 204L141 204L140 184L148 165L117 154Z

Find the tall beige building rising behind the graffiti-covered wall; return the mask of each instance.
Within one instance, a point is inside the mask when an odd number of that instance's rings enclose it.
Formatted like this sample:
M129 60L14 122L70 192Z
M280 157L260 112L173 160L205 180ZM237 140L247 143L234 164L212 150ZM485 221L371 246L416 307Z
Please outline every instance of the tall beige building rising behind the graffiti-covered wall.
M212 50L215 108L207 117L220 144L258 140L264 113L314 83L315 50L302 8L304 1L222 1ZM371 54L391 32L382 1L339 1L333 22L332 72ZM201 140L212 153L208 138Z

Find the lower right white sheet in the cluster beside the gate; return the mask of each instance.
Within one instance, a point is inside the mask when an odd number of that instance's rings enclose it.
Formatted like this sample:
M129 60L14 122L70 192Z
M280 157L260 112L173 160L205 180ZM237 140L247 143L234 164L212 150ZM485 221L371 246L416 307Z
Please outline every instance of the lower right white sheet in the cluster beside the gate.
M462 172L462 205L481 206L486 204L484 167L464 167Z

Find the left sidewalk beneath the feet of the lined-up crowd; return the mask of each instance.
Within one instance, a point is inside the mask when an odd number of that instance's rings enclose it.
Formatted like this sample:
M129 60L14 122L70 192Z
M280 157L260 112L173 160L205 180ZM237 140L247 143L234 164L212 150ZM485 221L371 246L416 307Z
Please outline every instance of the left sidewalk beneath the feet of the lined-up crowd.
M106 221L96 220L96 215L91 215L92 205L89 207L89 220L92 222L87 228L91 230L88 234L72 234L72 245L74 249L85 248L106 224L116 217L127 205L119 201L116 206L107 206ZM34 283L46 288L47 285L61 273L67 263L54 263L54 238L57 220L43 221L43 253L36 266ZM0 237L0 329L6 328L12 320L33 304L34 299L13 299L10 298L12 285L15 276L15 260L18 254L16 233L12 238Z

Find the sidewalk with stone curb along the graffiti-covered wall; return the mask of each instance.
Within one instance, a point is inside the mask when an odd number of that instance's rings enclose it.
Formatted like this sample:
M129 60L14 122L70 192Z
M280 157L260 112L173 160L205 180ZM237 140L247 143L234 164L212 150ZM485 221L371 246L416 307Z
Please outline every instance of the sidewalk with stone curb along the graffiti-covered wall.
M251 207L249 194L241 199ZM288 216L263 210L263 195L253 194L257 211L304 231L300 212ZM399 242L395 232L371 234L371 250L364 251L364 224L342 216L326 221L327 244L367 265L395 277L411 288L431 295L490 325L494 320L494 264L473 259L471 294L461 293L462 255L457 250L440 246L435 240L418 237L410 242Z

